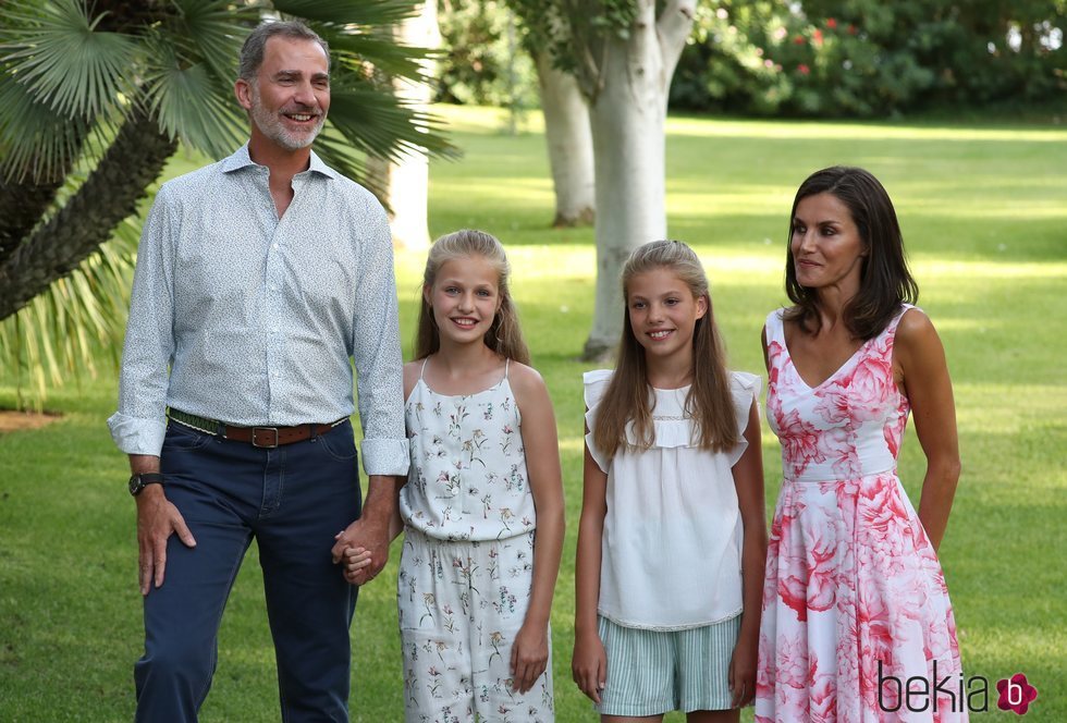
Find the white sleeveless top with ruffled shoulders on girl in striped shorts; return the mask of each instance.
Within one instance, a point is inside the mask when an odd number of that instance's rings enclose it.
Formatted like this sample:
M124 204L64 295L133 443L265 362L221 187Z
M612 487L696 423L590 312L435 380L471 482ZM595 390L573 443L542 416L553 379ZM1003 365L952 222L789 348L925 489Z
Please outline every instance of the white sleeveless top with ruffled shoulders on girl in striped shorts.
M585 373L590 430L612 373ZM758 403L760 378L740 371L729 377L740 437ZM651 449L621 449L605 458L586 434L589 453L608 474L598 612L625 627L684 630L741 612L743 528L731 468L748 442L741 438L726 452L695 446L685 412L689 388L652 393ZM626 437L637 441L631 426Z

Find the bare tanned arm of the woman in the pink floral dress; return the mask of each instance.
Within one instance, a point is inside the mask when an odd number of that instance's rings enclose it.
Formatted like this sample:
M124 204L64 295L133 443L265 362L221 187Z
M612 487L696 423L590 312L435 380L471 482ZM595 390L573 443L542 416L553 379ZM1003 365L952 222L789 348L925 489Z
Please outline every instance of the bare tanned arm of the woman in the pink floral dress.
M916 433L927 457L919 520L937 550L959 480L959 441L945 350L933 323L919 310L909 310L900 319L893 366L897 385L911 403Z

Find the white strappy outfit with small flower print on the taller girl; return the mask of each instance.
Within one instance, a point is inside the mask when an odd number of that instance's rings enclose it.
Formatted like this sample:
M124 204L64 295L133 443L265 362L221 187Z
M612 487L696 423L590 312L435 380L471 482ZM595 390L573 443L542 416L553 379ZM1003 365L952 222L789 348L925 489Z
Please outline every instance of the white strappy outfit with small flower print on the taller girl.
M405 404L412 466L396 596L409 723L554 721L551 654L527 693L511 676L537 516L508 366L493 387L454 396L420 372Z

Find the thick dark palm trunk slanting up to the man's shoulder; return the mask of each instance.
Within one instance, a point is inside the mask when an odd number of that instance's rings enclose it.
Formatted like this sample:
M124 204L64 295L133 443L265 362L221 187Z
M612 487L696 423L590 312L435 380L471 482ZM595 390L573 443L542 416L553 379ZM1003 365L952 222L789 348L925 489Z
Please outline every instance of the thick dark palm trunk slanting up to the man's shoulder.
M159 177L177 142L134 110L77 193L0 265L0 319L93 254Z

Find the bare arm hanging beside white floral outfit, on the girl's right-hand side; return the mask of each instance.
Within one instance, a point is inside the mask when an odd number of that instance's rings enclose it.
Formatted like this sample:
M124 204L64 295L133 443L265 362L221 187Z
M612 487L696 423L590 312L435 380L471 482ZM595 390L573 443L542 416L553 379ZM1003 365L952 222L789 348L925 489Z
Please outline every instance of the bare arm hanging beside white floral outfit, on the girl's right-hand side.
M563 555L563 473L555 415L544 381L537 371L519 364L512 365L511 381L523 418L526 470L537 510L530 603L512 645L515 690L526 693L544 672L549 660L549 617Z

